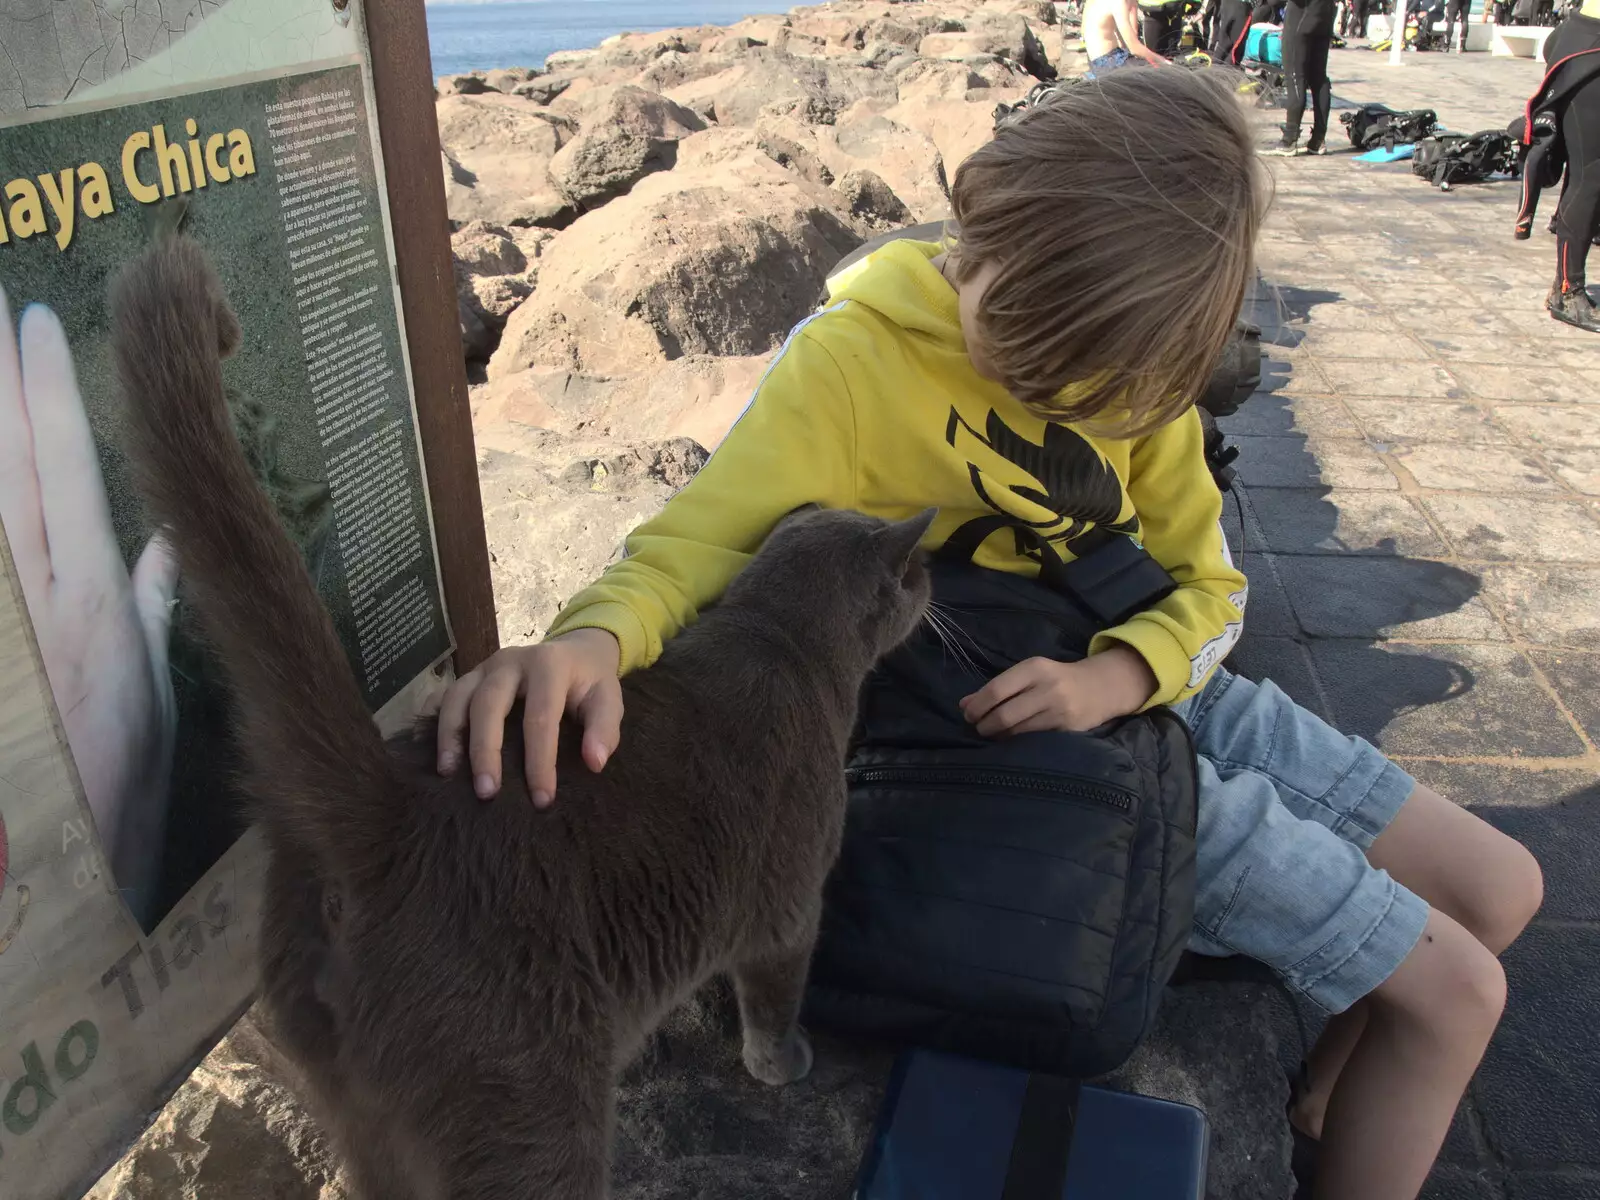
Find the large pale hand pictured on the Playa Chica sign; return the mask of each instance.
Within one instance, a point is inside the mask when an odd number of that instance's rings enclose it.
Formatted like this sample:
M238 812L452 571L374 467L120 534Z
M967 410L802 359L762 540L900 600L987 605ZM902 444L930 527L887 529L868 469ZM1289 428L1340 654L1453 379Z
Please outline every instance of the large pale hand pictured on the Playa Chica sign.
M130 574L61 320L21 326L0 291L0 525L101 846L134 914L162 869L176 702L178 563L152 538Z

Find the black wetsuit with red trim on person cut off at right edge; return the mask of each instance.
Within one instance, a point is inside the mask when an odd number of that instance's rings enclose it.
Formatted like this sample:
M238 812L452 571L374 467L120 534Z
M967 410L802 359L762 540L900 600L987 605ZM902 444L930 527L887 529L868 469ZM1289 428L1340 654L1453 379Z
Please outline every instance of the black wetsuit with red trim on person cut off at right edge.
M1544 43L1544 59L1549 70L1525 115L1530 150L1517 235L1530 235L1539 189L1560 176L1565 162L1566 186L1555 208L1555 280L1563 291L1576 291L1586 282L1589 243L1600 232L1600 19L1573 13ZM1541 131L1546 136L1536 136Z

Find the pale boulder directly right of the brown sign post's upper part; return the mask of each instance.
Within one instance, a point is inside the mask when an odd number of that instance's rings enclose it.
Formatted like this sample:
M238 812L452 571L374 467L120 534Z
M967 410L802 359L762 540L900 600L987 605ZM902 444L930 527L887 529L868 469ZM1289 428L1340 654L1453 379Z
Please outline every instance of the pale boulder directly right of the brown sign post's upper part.
M445 197L458 222L558 227L576 214L550 182L550 160L578 136L578 122L517 96L445 96L438 139Z

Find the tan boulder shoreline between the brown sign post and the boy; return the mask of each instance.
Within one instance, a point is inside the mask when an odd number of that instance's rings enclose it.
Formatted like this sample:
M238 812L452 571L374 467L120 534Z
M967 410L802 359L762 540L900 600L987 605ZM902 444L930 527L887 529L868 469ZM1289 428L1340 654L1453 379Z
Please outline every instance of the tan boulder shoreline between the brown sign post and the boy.
M438 80L506 640L667 494L568 466L715 448L827 270L947 216L995 107L1078 58L1050 0L850 0Z

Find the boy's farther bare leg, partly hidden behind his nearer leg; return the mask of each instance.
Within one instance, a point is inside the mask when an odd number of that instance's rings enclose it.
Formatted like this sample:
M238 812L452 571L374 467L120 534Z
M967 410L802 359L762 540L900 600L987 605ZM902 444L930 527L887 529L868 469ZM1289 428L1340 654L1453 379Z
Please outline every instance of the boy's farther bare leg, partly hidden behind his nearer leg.
M1544 899L1539 864L1491 824L1421 784L1373 842L1366 859L1434 909L1453 917L1493 954L1523 931ZM1301 1133L1322 1136L1328 1098L1366 1027L1368 1005L1334 1016L1306 1058L1306 1090L1290 1104Z

